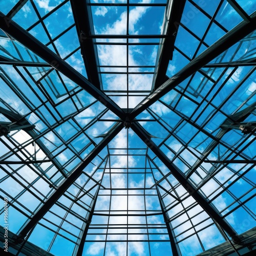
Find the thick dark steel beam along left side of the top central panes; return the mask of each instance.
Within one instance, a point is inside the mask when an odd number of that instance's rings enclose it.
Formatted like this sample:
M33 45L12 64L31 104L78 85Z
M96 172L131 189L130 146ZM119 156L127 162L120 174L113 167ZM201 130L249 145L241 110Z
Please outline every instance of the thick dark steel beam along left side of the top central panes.
M88 79L95 87L102 89L96 39L83 38L86 35L94 34L90 1L70 0L70 3Z

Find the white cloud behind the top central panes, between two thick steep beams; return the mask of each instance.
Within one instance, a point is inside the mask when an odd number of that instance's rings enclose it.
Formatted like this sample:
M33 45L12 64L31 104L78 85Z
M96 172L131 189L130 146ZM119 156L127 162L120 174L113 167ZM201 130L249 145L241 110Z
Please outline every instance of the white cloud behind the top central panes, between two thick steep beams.
M150 3L151 1L142 1L142 3ZM129 13L129 33L138 34L139 29L136 25L139 20L143 18L143 15L146 13L150 7L136 7L132 9ZM104 16L107 10L105 9L96 9L95 15ZM126 25L127 25L127 12L124 11L120 14L119 18L113 24L106 24L105 28L100 31L96 31L99 34L126 34ZM117 39L114 39L117 41ZM120 39L122 41L123 39ZM113 41L108 40L108 41ZM137 39L139 42L139 39ZM124 41L125 42L125 41ZM110 66L126 66L126 47L118 45L101 45L98 47L98 54L101 65L110 65ZM135 58L136 54L136 58ZM157 55L157 48L154 48L152 56L146 56L148 61L155 61ZM130 66L139 66L145 59L145 54L141 52L139 48L129 51L129 65ZM141 59L139 59L141 57ZM143 62L144 64L144 62ZM134 72L140 72L141 70L135 69ZM152 86L152 75L141 75L129 76L129 90L150 90ZM127 81L126 75L106 75L106 87L108 90L126 90ZM127 108L126 97L116 97L114 99L116 103L121 106L121 108ZM142 98L129 97L129 108L136 106Z

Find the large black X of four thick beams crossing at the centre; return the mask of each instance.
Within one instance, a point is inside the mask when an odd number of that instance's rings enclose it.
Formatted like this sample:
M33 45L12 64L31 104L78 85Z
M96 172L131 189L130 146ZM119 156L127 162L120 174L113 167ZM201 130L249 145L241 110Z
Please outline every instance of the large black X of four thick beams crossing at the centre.
M106 96L102 91L97 89L91 82L84 78L74 68L72 68L66 61L62 60L58 55L53 53L49 48L43 45L39 40L34 38L30 33L18 26L13 20L3 13L0 13L0 28L9 34L11 37L19 41L25 47L33 51L39 57L49 63L54 69L62 74L65 74L72 81L77 83L81 88L86 90L98 101L116 114L124 123L126 127L131 126L134 132L151 148L156 156L169 168L173 176L183 185L187 192L194 197L199 205L207 212L207 214L214 219L234 241L238 242L236 231L221 218L218 210L201 195L196 187L177 169L177 167L170 162L164 153L157 147L157 145L147 136L147 133L136 122L136 117L146 110L150 105L164 96L167 92L175 88L178 84L184 81L190 75L203 68L209 61L220 55L233 44L243 39L256 28L256 17L251 15L250 19L243 21L236 28L229 31L216 44L210 46L202 54L192 60L186 67L179 71L176 75L168 79L157 90L148 95L142 102L140 102L131 113L125 113L111 98ZM94 150L84 159L84 161L74 170L74 172L56 189L56 191L48 198L48 200L39 208L34 216L27 222L24 228L19 232L19 239L26 237L28 232L38 223L38 221L45 215L45 213L53 206L53 204L60 198L61 195L68 189L70 185L79 177L84 167L86 167L96 157L100 151L122 130L122 124L118 123L114 129L94 148Z

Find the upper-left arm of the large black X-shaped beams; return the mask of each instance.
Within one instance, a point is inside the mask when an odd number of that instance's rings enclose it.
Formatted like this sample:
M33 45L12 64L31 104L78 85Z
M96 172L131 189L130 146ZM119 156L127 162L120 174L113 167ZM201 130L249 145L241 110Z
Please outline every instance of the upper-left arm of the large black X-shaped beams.
M69 79L77 83L81 88L90 93L99 100L109 110L115 113L119 118L125 120L125 113L121 108L103 92L97 89L84 76L72 68L66 61L61 59L57 54L52 52L48 47L33 37L22 27L18 26L12 19L0 12L0 28L11 37L19 41L25 47L37 54L40 58L48 62L53 68L67 76Z

